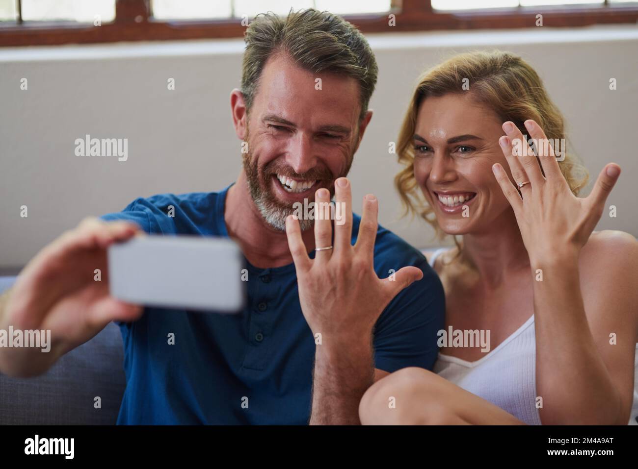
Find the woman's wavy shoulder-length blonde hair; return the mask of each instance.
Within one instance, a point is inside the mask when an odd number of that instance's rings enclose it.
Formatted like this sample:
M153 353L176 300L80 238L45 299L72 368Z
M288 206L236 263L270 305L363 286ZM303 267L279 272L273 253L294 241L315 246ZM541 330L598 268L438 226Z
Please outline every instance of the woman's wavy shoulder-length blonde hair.
M468 78L470 90L463 90L464 78ZM438 226L433 208L424 199L414 178L412 139L419 106L426 97L468 92L479 103L493 110L501 122L514 122L523 134L527 133L523 122L533 119L545 131L547 138L565 138L563 115L547 96L536 71L517 55L498 50L468 52L455 55L424 72L419 77L399 133L397 153L405 168L396 175L394 184L403 202L403 215L419 214L433 226L439 238L443 238L445 233ZM577 195L587 184L588 172L569 152L558 164L570 189ZM456 236L454 242L460 252L461 245Z

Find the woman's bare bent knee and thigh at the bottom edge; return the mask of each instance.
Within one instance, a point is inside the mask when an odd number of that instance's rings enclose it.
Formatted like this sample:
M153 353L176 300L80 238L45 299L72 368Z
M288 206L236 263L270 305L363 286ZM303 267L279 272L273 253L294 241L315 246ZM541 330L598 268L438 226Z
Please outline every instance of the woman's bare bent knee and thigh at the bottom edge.
M361 400L359 418L364 425L524 424L436 373L413 367L373 384Z

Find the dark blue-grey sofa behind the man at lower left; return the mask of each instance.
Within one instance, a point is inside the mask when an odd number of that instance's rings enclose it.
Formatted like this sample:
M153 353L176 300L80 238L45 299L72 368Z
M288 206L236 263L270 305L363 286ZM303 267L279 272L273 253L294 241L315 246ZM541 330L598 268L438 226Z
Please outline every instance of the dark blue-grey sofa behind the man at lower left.
M13 282L0 277L0 292ZM39 377L0 373L0 424L115 424L126 384L122 360L122 336L111 322Z

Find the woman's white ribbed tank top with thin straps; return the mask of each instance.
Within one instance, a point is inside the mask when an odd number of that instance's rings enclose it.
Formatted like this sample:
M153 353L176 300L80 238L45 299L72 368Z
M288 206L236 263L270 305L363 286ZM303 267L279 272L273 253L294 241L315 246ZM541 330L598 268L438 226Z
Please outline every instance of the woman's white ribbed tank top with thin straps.
M434 261L447 248L438 249ZM638 425L638 344L635 352L634 405L630 425ZM536 408L536 335L534 316L477 361L439 353L434 373L502 408L530 425L540 425Z

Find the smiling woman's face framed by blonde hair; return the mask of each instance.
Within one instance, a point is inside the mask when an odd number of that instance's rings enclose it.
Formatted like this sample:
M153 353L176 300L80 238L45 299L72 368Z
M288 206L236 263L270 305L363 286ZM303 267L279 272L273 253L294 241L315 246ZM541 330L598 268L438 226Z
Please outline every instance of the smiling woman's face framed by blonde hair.
M445 233L489 231L511 210L492 171L499 162L511 178L498 145L502 124L471 94L427 97L421 103L412 141L414 176Z

